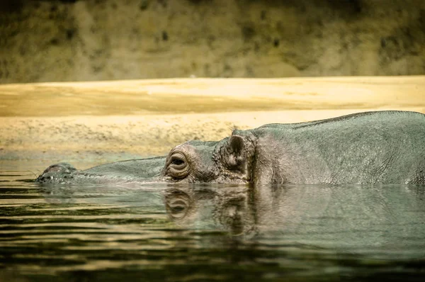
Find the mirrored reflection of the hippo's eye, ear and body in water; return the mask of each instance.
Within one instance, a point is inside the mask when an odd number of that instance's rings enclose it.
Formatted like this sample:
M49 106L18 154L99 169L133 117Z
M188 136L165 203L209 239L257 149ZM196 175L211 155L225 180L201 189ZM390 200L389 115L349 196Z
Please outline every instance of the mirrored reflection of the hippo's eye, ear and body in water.
M260 235L275 244L310 244L352 252L425 254L422 186L171 186L166 213L185 229ZM377 254L377 253L375 253ZM393 256L394 258L394 256Z

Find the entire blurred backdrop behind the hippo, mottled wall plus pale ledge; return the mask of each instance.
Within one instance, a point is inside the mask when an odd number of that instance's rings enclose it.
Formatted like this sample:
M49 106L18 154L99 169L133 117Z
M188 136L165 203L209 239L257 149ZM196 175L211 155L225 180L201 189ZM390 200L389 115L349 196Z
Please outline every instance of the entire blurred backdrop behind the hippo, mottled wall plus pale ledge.
M425 0L0 0L0 167L425 113L424 74Z

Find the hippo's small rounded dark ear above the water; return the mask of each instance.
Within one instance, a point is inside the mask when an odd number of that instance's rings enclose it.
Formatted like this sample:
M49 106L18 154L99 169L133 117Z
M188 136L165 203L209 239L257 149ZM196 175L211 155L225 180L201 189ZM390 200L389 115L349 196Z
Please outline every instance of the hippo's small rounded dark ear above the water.
M223 161L226 167L232 170L244 170L244 163L246 162L244 138L239 135L230 136L229 140L227 140L225 151Z

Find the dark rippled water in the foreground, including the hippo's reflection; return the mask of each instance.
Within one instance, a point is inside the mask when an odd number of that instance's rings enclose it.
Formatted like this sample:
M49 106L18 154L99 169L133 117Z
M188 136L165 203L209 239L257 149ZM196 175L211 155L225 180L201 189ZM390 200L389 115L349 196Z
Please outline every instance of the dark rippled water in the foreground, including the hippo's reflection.
M0 281L424 281L424 186L38 186L0 171Z

